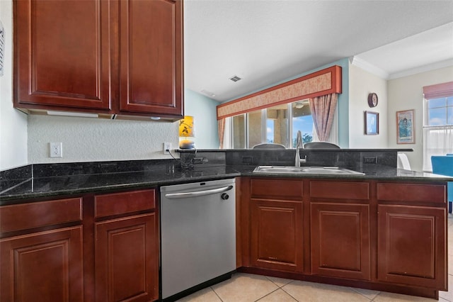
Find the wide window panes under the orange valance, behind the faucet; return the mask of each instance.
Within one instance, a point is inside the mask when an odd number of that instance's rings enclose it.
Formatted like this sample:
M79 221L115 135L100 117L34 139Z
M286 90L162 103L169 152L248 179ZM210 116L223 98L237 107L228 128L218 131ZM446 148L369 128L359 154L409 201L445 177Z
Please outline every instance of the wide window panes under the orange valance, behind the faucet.
M314 138L308 99L233 116L231 127L231 147L235 149L252 148L261 143L294 148L298 130L302 132L304 143Z

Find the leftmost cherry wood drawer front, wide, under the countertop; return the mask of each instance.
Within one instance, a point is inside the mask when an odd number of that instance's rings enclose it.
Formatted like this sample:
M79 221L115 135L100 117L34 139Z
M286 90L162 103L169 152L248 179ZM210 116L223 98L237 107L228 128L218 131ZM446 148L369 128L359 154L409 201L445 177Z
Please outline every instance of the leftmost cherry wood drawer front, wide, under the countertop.
M23 203L0 208L0 232L82 220L82 198Z

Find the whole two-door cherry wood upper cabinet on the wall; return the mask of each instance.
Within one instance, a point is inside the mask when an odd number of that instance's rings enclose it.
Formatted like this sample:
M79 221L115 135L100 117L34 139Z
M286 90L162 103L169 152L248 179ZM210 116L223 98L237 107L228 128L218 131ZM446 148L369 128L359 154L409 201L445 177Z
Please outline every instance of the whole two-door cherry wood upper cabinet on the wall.
M183 3L14 1L14 106L183 116Z

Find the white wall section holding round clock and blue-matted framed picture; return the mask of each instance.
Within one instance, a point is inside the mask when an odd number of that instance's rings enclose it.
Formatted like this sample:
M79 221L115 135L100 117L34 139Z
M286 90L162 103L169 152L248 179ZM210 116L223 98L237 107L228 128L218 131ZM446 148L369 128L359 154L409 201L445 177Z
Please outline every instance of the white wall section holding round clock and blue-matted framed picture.
M376 107L368 106L368 94L378 96ZM387 81L361 69L349 66L349 147L373 149L388 147ZM365 135L365 111L379 113L379 134Z

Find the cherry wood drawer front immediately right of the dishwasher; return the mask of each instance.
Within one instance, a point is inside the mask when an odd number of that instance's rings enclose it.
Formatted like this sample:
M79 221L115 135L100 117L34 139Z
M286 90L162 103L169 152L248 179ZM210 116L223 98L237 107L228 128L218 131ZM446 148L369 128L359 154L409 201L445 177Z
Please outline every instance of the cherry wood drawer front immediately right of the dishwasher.
M302 198L302 180L287 179L252 179L251 194L253 197L272 196Z

